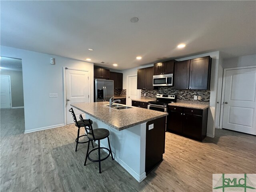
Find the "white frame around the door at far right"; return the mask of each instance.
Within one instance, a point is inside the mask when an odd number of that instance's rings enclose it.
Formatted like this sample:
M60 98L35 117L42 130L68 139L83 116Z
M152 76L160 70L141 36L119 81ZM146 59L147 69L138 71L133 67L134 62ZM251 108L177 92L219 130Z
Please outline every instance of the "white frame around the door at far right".
M245 66L245 67L232 67L232 68L224 68L223 71L223 82L222 82L222 94L221 94L221 101L220 101L220 129L222 129L223 123L223 113L224 113L224 95L225 95L225 86L226 86L226 71L227 70L236 70L236 69L248 69L248 68L255 68L256 65L253 66Z

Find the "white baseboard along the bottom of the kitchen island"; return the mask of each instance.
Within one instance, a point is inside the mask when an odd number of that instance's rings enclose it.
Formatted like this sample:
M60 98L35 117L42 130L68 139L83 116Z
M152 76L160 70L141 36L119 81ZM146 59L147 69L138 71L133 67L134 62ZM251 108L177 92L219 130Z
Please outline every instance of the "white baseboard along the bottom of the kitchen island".
M98 144L98 142L96 142ZM100 143L100 147L106 147L103 144ZM108 148L108 147L106 147ZM103 149L106 153L108 153L108 150ZM142 174L138 174L135 172L130 166L128 166L125 162L123 162L120 158L118 158L112 151L113 158L116 162L118 162L128 173L130 173L131 176L133 176L138 182L142 182L146 178L146 172L143 172ZM111 158L111 157L109 157Z

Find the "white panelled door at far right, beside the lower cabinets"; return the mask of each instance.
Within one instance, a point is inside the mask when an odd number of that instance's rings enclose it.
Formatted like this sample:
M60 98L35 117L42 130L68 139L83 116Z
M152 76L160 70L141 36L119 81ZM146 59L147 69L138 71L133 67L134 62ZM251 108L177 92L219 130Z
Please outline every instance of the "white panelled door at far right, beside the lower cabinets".
M226 70L222 128L256 135L256 68Z

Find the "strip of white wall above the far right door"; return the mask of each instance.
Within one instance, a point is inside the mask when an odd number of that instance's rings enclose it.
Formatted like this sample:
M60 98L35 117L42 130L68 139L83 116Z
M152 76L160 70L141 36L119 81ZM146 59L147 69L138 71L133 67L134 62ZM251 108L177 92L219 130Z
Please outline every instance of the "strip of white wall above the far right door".
M223 60L223 68L244 67L256 65L256 55L246 55Z

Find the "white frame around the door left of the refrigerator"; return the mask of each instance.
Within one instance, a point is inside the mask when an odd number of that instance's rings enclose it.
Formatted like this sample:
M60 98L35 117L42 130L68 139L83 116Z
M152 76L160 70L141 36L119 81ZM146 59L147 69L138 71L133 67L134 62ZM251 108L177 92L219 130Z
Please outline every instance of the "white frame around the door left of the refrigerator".
M64 106L64 124L67 125L67 96L66 96L66 69L76 70L76 71L85 71L88 72L89 80L88 80L88 94L89 94L89 102L90 102L90 70L83 70L77 68L70 68L70 67L62 67L62 74L63 74L63 106Z

